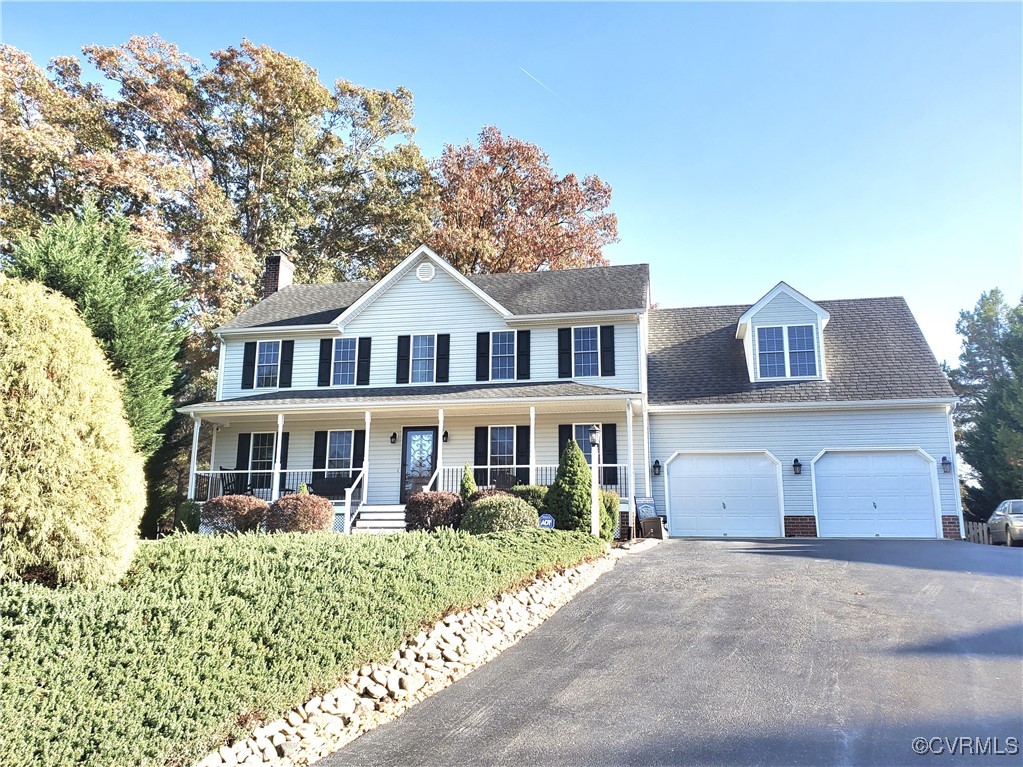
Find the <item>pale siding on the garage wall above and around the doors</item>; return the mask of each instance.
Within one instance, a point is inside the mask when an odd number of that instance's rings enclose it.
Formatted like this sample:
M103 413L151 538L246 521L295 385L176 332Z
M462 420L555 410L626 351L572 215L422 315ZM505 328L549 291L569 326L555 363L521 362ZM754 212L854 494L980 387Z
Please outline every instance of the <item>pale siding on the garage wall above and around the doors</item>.
M785 513L813 515L810 462L838 448L920 447L941 461L951 455L943 406L888 410L799 412L651 413L651 461L664 465L676 450L769 450L782 461ZM619 447L619 450L621 448ZM801 475L792 470L799 458ZM957 514L954 475L938 477L941 513ZM658 511L664 513L664 475L653 477Z

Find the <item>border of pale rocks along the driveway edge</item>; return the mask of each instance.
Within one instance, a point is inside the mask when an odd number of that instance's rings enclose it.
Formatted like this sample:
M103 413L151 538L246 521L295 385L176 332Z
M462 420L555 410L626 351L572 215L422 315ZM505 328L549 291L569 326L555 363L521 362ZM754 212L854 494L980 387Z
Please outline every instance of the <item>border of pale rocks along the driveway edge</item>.
M312 764L510 647L625 553L615 549L599 559L538 578L483 606L448 615L402 643L389 663L363 666L342 686L258 727L250 737L221 747L196 767Z

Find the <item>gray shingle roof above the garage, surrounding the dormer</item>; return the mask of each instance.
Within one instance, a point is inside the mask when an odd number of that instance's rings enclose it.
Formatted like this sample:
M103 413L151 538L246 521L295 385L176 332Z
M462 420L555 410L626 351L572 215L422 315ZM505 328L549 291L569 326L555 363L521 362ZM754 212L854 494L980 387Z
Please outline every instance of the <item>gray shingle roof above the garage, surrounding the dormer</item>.
M818 301L828 380L750 381L736 339L745 306L658 309L650 317L652 405L760 404L954 397L901 298Z

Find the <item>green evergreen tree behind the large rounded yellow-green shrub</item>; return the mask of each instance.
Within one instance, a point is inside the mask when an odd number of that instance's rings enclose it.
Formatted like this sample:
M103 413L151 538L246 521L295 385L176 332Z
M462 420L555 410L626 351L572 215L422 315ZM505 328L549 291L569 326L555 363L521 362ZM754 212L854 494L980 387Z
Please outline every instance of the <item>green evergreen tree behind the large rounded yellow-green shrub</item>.
M75 302L124 381L135 448L149 457L171 419L176 357L187 328L180 321L180 286L148 260L130 227L124 217L106 220L86 202L79 215L58 216L21 237L5 271Z

